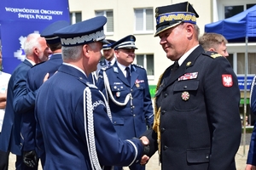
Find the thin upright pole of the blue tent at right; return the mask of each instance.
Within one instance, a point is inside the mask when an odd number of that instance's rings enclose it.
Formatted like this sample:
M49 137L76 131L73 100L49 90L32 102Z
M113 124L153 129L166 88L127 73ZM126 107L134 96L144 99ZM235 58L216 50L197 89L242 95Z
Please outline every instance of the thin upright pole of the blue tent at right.
M245 62L244 62L244 98L243 98L243 156L246 155L246 116L247 116L247 63L248 63L248 50L247 50L248 37L246 37L246 53L245 53Z

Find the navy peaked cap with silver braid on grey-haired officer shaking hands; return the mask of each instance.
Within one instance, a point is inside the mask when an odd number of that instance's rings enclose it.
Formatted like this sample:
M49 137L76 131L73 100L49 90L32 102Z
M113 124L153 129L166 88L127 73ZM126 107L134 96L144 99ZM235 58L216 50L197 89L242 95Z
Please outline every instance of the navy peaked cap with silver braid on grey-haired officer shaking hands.
M64 47L79 46L91 42L109 43L105 40L103 26L107 18L96 16L55 31L55 35L61 37L61 44Z

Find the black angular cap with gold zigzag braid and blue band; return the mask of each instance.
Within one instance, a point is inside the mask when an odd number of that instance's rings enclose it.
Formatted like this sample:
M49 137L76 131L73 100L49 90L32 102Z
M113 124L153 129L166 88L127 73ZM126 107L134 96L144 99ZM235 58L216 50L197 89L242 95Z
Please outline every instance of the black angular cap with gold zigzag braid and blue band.
M154 37L158 36L160 32L183 22L196 24L196 18L198 17L199 15L189 2L157 7L155 8L156 32Z

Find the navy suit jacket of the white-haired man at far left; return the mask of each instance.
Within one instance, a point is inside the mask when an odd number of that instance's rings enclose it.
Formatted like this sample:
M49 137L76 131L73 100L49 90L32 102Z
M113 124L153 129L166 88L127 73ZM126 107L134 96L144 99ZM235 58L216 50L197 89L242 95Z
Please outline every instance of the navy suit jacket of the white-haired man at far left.
M3 128L0 135L0 150L11 151L20 156L23 137L20 135L22 113L26 111L24 105L32 105L32 95L25 96L26 75L32 67L28 60L24 60L15 68L9 79L7 103L3 118ZM24 99L26 97L26 99ZM20 102L23 101L23 102Z

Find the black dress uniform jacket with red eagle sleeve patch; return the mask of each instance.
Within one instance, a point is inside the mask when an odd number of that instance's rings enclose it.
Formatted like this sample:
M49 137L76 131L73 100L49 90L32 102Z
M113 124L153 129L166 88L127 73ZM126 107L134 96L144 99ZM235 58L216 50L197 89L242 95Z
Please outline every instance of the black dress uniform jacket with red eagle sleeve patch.
M161 78L155 97L162 170L236 169L240 90L228 60L208 53L201 46L195 48L173 75L171 65ZM225 82L225 77L232 81ZM148 130L144 135L153 155L158 150L157 134Z

